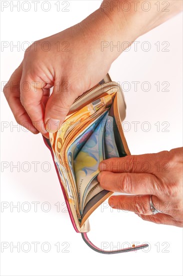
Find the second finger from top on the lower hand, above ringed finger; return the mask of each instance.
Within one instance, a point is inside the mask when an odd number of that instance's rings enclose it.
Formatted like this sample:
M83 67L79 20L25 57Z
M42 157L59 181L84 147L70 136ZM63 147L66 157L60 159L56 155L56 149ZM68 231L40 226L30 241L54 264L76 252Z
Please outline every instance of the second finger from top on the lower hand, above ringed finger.
M157 195L159 189L158 179L151 174L100 172L97 180L103 189L112 192Z

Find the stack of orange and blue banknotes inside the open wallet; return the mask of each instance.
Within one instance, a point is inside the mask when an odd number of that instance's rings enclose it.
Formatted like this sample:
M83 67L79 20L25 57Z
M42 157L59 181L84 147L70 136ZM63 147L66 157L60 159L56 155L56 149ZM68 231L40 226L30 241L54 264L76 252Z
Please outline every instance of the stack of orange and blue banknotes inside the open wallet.
M70 113L59 130L49 136L60 180L78 223L88 203L103 190L96 179L99 163L119 156L113 133L114 97L115 93L105 93Z

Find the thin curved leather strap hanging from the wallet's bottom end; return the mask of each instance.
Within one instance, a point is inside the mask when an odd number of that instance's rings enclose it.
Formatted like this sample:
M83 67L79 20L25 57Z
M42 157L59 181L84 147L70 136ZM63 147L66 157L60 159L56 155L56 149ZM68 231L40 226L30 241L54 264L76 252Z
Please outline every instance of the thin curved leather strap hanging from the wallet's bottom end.
M137 245L137 246L131 246L131 247L127 247L127 248L122 248L122 249L118 249L118 250L103 250L97 246L95 246L88 238L87 233L81 233L82 239L84 240L84 242L94 251L98 252L98 253L102 253L102 254L116 254L116 253L122 253L122 252L128 252L128 251L136 251L138 249L142 249L145 247L148 247L147 243L141 244L141 245Z

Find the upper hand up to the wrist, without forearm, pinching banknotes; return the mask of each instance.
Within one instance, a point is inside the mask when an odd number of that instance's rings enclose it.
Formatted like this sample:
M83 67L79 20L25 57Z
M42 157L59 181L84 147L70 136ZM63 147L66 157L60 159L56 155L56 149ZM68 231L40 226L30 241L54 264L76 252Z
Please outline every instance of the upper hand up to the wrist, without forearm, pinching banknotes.
M100 29L102 22L107 25L108 21L94 14L63 32L34 42L25 51L23 61L3 90L19 124L48 137L47 131L59 128L75 98L102 80L112 62L112 55L100 50L99 37L105 37L105 31Z

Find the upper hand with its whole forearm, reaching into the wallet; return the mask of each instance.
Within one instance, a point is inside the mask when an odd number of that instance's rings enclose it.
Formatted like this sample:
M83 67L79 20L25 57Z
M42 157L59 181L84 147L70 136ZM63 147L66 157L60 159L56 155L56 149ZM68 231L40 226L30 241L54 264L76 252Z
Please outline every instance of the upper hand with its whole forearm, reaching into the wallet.
M26 50L3 90L19 124L48 137L47 131L59 128L75 98L102 80L125 47L182 8L181 1L172 0L168 12L158 11L153 1L147 12L144 1L137 6L128 2L126 12L121 8L124 0L103 1L79 24Z

